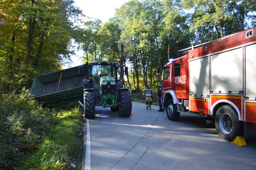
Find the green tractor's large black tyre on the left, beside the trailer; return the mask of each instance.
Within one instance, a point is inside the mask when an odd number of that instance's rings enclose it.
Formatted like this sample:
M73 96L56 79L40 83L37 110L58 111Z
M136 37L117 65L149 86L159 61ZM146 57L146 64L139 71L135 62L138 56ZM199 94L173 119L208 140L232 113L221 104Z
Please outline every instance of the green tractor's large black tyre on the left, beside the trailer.
M94 91L84 92L84 117L95 118L95 98Z

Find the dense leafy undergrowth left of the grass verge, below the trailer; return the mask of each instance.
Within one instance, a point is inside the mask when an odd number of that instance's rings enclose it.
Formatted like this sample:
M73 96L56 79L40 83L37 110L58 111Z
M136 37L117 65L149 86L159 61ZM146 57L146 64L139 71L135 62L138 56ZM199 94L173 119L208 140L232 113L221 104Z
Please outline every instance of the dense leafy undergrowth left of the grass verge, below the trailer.
M21 94L2 94L0 99L0 169L13 169L56 124L56 112L43 108L25 89Z

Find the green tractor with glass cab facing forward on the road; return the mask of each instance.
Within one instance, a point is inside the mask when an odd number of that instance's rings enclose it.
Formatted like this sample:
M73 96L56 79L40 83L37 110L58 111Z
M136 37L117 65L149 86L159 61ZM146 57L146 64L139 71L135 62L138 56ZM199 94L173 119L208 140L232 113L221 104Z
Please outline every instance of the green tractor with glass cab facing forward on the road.
M120 117L129 117L132 112L132 97L128 88L123 88L123 80L117 78L117 70L128 67L114 62L86 63L79 67L79 74L86 74L84 87L84 116L95 118L95 106L110 107Z

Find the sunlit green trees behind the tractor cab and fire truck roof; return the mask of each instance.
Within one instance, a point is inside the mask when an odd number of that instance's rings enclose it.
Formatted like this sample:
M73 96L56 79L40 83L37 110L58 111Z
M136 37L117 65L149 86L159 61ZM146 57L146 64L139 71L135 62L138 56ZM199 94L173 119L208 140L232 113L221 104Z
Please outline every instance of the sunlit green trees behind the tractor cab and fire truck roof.
M156 67L178 58L178 50L254 25L255 3L247 0L130 0L108 22L87 22L90 38L79 43L84 62L121 58L130 68L126 84L141 89L156 83Z

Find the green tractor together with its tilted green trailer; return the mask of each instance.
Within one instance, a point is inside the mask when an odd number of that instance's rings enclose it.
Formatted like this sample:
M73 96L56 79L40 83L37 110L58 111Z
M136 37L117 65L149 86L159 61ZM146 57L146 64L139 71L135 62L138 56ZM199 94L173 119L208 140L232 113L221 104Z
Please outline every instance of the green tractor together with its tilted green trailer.
M44 106L84 101L86 118L95 118L95 106L109 107L120 117L129 117L132 97L129 89L123 88L123 79L117 77L122 67L128 75L128 67L107 61L47 73L35 77L30 92Z

